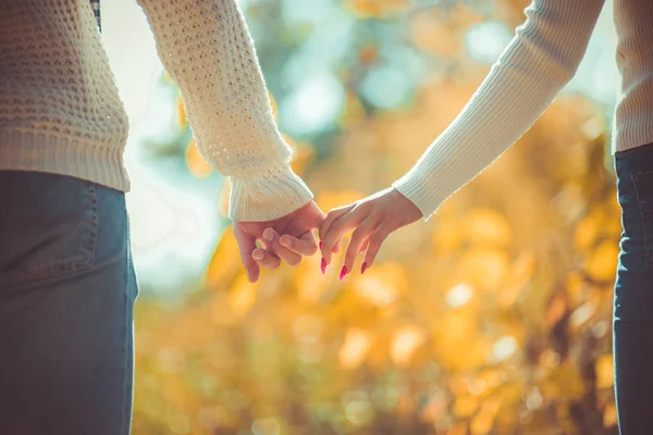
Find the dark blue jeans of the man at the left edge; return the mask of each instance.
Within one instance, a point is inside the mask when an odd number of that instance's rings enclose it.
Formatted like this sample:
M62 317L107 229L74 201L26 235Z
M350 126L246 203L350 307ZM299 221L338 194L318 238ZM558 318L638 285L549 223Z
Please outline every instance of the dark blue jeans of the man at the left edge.
M0 434L130 433L137 291L123 192L0 171Z

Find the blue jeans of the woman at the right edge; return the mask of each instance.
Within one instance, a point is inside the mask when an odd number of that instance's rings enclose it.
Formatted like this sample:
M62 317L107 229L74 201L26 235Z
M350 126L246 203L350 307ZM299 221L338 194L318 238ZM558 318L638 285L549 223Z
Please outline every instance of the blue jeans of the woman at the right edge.
M615 286L615 394L623 435L653 434L653 144L615 156L621 253Z

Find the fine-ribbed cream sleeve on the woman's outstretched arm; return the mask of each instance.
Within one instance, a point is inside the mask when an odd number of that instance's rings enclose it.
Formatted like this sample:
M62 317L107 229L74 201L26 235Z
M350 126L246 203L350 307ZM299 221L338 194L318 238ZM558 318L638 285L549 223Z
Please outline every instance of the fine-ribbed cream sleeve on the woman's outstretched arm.
M428 219L540 117L576 73L603 0L533 0L454 122L393 186Z

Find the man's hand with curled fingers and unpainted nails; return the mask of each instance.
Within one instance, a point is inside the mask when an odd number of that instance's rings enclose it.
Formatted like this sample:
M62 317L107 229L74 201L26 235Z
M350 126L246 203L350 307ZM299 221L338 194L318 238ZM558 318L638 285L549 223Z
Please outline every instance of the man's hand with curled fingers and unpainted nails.
M235 222L234 234L249 282L258 281L261 265L276 269L281 260L295 265L301 256L312 256L318 250L312 229L319 228L323 220L324 213L310 201L275 221ZM264 249L257 248L256 240L261 240Z

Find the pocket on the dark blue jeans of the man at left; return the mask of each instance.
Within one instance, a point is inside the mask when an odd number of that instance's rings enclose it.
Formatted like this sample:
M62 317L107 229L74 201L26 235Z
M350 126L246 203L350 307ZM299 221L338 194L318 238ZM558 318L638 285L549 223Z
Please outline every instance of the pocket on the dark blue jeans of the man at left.
M0 274L52 277L93 264L96 185L45 173L1 175Z

